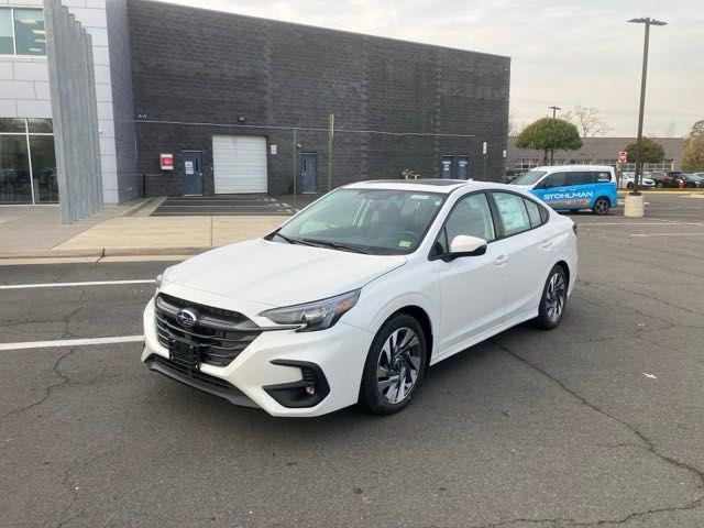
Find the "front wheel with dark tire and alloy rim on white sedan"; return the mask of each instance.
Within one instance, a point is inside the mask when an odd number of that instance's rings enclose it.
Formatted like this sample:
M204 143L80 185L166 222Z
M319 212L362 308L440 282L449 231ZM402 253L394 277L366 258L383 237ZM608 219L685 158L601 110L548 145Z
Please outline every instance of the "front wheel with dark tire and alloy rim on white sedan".
M398 413L408 405L426 371L426 336L407 314L386 321L376 333L362 374L360 405L375 415Z

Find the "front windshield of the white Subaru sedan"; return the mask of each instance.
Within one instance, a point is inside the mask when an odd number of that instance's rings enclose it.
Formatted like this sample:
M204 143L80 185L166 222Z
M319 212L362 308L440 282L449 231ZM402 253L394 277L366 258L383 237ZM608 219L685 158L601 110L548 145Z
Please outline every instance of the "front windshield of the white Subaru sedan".
M375 255L414 252L446 196L398 189L339 189L312 204L270 240Z

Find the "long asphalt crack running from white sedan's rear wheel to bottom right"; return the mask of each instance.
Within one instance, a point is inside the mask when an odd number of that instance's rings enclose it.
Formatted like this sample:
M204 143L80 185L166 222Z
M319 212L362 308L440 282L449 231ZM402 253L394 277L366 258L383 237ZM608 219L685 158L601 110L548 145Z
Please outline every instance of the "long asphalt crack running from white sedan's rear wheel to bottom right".
M626 429L628 429L631 432L631 435L634 435L636 438L638 438L638 440L640 440L640 442L642 443L641 448L645 448L649 453L651 453L652 455L657 457L658 459L660 459L661 461L666 462L667 464L669 464L669 465L671 465L673 468L676 468L679 470L686 471L686 472L695 475L696 479L700 481L700 484L696 487L700 488L700 490L704 487L704 472L703 471L698 470L697 468L695 468L695 466L693 466L691 464L688 464L688 463L682 462L680 460L673 459L672 457L669 457L669 455L667 455L664 453L661 453L658 450L656 443L650 438L648 438L642 431L637 429L635 426L632 426L632 425L628 424L626 420L624 420L622 418L618 418L617 416L614 416L610 413L597 407L595 404L593 404L592 402L586 399L584 396L580 395L579 393L576 393L572 388L568 387L564 382L562 382L561 380L554 377L553 375L551 375L550 373L548 373L547 371L544 371L540 366L536 365L535 363L531 363L530 361L528 361L526 358L521 356L520 354L514 352L507 345L501 343L498 340L492 339L491 342L494 343L498 349L504 351L506 354L510 355L515 360L517 360L520 363L522 363L524 365L526 365L527 367L538 372L542 376L544 376L548 380L550 380L552 383L558 385L562 391L564 391L565 393L571 395L573 398L578 399L582 405L588 407L590 409L594 410L595 413L598 413L600 415L605 416L609 420L613 420L613 421L622 425ZM640 517L647 517L647 516L653 515L653 514L669 513L669 512L686 512L686 510L696 509L703 503L704 503L704 494L700 495L696 499L694 499L694 501L692 501L692 502L690 502L690 503L688 503L685 505L669 506L669 507L663 507L663 508L652 508L652 509L647 509L647 510L644 510L644 512L634 512L634 513L630 513L626 517L620 518L620 519L601 519L601 520L595 520L595 521L581 522L581 521L576 521L575 519L569 519L569 518L546 518L546 519L519 518L519 519L513 519L513 520L508 520L508 521L499 521L499 522L494 522L494 524L479 525L475 528L499 528L502 526L512 526L512 525L516 525L518 522L524 522L524 524L551 524L552 526L560 526L560 525L562 525L562 526L585 526L585 527L622 525L622 524L627 522L627 521L629 521L631 519L636 519L636 518L640 518Z

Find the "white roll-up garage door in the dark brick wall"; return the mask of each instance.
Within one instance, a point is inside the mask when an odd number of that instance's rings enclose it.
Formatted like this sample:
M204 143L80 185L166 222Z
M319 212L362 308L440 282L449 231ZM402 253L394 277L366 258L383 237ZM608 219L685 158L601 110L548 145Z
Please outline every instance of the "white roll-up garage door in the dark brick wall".
M216 194L266 193L266 138L213 135Z

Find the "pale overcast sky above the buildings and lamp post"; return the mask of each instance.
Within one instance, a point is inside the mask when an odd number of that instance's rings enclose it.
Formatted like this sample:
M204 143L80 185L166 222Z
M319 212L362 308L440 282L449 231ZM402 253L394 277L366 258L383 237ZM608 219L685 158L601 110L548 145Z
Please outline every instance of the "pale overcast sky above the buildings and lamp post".
M175 0L190 6L512 57L516 123L595 107L637 132L644 25L650 38L645 132L686 135L704 119L704 0Z

